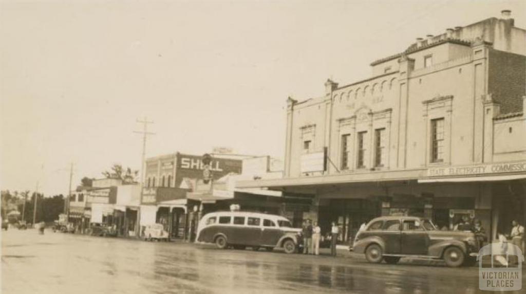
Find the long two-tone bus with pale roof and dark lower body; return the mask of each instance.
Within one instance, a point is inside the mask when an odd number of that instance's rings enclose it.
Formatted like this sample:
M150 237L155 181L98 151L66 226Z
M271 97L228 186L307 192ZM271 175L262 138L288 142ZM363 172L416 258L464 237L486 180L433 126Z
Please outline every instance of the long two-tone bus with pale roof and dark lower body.
M234 247L254 250L283 248L294 253L300 244L301 229L292 228L282 216L257 212L212 212L199 221L198 242L215 243L218 248Z

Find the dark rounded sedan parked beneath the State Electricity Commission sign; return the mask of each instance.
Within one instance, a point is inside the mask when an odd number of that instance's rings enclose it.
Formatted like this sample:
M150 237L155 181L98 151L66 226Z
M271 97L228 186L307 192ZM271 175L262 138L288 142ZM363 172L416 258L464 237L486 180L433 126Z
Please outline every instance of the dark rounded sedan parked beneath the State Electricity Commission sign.
M369 262L397 263L402 257L443 259L450 267L473 265L479 251L472 232L440 231L425 218L378 217L358 232L351 251Z

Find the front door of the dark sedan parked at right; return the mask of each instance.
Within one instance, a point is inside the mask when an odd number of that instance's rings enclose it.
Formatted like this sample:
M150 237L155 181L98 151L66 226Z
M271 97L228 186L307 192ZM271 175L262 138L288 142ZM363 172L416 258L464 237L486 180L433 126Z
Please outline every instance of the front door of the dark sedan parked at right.
M427 255L429 236L417 219L404 219L402 223L402 254Z

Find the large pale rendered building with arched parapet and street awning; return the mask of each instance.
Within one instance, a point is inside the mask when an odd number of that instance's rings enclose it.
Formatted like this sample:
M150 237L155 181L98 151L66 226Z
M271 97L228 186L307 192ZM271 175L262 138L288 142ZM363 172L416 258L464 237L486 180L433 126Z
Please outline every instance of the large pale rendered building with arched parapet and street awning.
M526 31L509 11L371 63L372 77L287 100L282 179L242 181L312 198L299 211L340 241L383 215L463 215L489 238L526 223Z

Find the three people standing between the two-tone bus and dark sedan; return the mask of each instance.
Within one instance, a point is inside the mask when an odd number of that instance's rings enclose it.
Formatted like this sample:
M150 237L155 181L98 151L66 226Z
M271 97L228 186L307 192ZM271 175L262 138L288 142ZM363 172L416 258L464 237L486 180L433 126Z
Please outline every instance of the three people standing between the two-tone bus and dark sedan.
M331 225L331 234L328 236L330 238L330 248L331 256L336 256L336 241L338 240L338 235L340 234L340 228L335 221ZM322 240L321 228L318 226L318 222L311 222L310 219L307 219L303 222L302 226L302 237L303 237L303 254L320 254L320 242Z

